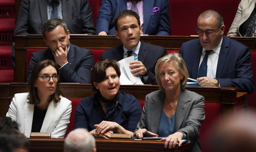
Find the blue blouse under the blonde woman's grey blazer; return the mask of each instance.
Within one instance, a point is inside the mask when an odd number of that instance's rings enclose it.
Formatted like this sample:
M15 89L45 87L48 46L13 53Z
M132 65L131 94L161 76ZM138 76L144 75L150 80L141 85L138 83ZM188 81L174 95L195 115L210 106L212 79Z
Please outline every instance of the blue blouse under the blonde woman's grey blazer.
M168 137L174 133L174 120L175 113L171 118L169 118L162 110L160 124L158 127L158 137Z

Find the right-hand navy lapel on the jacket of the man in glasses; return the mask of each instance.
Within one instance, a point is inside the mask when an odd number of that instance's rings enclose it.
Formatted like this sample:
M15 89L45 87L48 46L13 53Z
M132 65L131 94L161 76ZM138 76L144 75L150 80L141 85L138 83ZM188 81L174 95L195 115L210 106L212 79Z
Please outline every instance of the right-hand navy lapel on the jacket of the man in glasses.
M221 49L219 51L219 59L218 59L218 65L217 65L217 70L216 70L216 78L221 78L222 70L224 67L224 63L226 61L226 57L228 54L228 39L226 36L222 37L222 44L221 44Z

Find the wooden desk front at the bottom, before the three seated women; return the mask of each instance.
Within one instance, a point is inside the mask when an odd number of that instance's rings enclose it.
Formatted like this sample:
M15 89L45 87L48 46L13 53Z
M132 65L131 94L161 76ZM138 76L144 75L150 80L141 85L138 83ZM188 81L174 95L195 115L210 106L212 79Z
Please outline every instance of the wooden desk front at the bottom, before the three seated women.
M30 152L63 152L65 139L29 138ZM187 152L191 143L181 147L164 148L163 141L132 139L95 139L97 152Z

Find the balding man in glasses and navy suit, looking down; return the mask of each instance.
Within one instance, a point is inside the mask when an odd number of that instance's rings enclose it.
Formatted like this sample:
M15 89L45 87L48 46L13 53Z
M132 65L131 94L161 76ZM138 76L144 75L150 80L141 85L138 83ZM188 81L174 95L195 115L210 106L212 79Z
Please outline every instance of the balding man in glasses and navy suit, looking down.
M247 46L223 36L224 30L221 14L214 10L200 14L199 39L183 43L180 49L189 76L201 86L237 87L239 91L252 93L251 52Z

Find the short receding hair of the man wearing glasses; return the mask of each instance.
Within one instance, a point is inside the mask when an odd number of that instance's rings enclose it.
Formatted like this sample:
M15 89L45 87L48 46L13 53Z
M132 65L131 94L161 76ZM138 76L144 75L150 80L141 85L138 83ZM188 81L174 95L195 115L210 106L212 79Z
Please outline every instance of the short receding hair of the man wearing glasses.
M215 11L215 10L206 10L206 11L202 12L202 13L199 15L199 17L197 18L197 21L198 21L198 19L199 19L200 17L203 17L203 18L205 18L205 19L206 19L206 18L209 18L209 17L215 17L216 20L217 20L217 23L216 23L216 26L217 26L217 27L219 27L219 26L221 26L221 25L224 24L222 15L221 15L219 12Z

